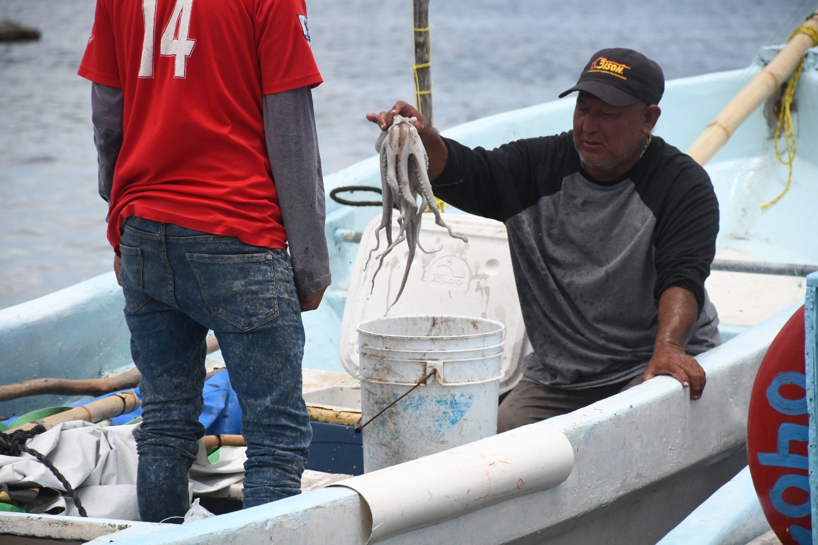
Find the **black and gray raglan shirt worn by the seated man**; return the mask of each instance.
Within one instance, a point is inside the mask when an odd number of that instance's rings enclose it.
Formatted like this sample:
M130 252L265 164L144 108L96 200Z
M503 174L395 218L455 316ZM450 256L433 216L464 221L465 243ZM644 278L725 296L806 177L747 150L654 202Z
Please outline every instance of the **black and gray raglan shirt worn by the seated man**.
M699 301L687 353L721 343L704 289L718 202L688 155L654 137L630 172L597 182L582 169L570 132L493 151L444 142L449 158L434 194L506 223L534 349L525 380L581 389L640 375L653 354L658 298L670 286Z

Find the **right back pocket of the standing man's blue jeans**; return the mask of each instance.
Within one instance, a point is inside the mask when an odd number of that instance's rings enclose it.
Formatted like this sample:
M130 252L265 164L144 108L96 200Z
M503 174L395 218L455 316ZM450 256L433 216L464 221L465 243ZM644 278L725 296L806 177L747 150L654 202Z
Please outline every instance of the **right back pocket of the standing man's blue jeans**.
M272 253L186 255L213 316L242 331L278 318Z

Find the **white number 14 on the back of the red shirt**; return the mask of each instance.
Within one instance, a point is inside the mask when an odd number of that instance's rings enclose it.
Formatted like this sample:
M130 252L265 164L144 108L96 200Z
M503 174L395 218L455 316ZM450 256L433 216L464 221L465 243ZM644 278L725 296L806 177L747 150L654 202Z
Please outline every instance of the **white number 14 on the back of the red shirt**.
M156 2L142 0L142 17L145 19L145 38L142 40L142 62L139 65L140 78L153 78L154 43L156 34ZM173 77L184 78L187 71L187 57L191 56L196 40L187 34L191 30L191 10L193 0L177 0L160 38L161 56L173 56Z

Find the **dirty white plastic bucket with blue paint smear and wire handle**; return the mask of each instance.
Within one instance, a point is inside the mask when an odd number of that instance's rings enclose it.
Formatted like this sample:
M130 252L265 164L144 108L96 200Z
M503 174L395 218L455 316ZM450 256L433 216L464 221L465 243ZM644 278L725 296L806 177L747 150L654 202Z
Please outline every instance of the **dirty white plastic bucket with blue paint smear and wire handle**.
M393 316L358 327L367 422L364 471L375 471L497 433L500 322L465 316Z

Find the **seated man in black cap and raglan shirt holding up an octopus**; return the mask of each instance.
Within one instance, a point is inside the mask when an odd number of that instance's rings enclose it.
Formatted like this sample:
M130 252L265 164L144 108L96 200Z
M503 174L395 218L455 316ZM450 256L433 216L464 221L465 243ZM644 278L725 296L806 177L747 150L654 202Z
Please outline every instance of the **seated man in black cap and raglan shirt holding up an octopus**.
M651 132L661 68L630 49L591 56L573 131L493 151L440 137L406 102L367 119L417 116L435 196L506 223L534 352L502 401L498 430L587 406L658 375L699 399L692 357L721 343L704 280L718 233L708 174Z

